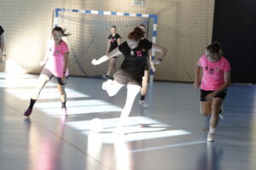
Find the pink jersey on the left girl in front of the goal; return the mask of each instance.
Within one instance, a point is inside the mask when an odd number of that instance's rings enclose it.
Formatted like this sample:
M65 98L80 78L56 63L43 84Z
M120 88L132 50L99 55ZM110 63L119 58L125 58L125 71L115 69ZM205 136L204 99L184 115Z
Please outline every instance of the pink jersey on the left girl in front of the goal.
M49 40L47 44L48 60L44 68L52 72L55 77L62 77L64 69L64 54L68 53L67 43L61 40L59 45L55 45L53 39ZM66 71L66 77L68 76L68 69Z

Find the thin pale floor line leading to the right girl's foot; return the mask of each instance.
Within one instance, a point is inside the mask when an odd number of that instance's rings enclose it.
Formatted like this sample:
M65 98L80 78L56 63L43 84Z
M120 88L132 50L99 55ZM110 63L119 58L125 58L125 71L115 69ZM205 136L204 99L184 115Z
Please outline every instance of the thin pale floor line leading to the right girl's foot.
M168 145L144 148L144 149L139 149L139 150L131 150L131 153L137 153L137 152L143 152L143 151L149 151L149 150L163 150L166 148L174 148L174 147L178 147L178 146L185 146L185 145L192 145L192 144L204 144L204 143L207 143L207 141L199 140L199 141L188 142L188 143L168 144Z

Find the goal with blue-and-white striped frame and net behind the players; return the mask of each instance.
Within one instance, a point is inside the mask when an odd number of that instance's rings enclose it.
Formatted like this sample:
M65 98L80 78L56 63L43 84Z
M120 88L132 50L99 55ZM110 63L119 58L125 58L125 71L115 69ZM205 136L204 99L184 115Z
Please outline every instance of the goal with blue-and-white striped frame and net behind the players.
M54 26L61 26L67 29L72 35L67 37L70 47L71 67L75 76L99 76L102 71L107 72L108 64L94 69L89 65L90 59L102 56L106 53L107 38L110 35L109 28L117 26L117 33L120 33L122 42L125 41L132 28L139 25L147 28L147 38L156 42L157 36L157 15L155 14L133 14L123 12L111 12L100 10L55 8ZM155 53L152 51L152 59ZM77 68L75 68L77 67ZM150 82L154 80L154 72L150 70Z

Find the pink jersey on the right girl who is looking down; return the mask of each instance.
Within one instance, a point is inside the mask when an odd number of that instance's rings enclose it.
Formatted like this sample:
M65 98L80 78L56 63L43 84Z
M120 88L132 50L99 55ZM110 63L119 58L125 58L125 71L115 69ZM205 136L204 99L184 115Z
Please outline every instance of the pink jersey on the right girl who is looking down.
M204 54L198 63L203 68L201 89L217 90L224 85L224 73L231 70L227 59L221 56L218 62L213 63L207 59L207 54Z

